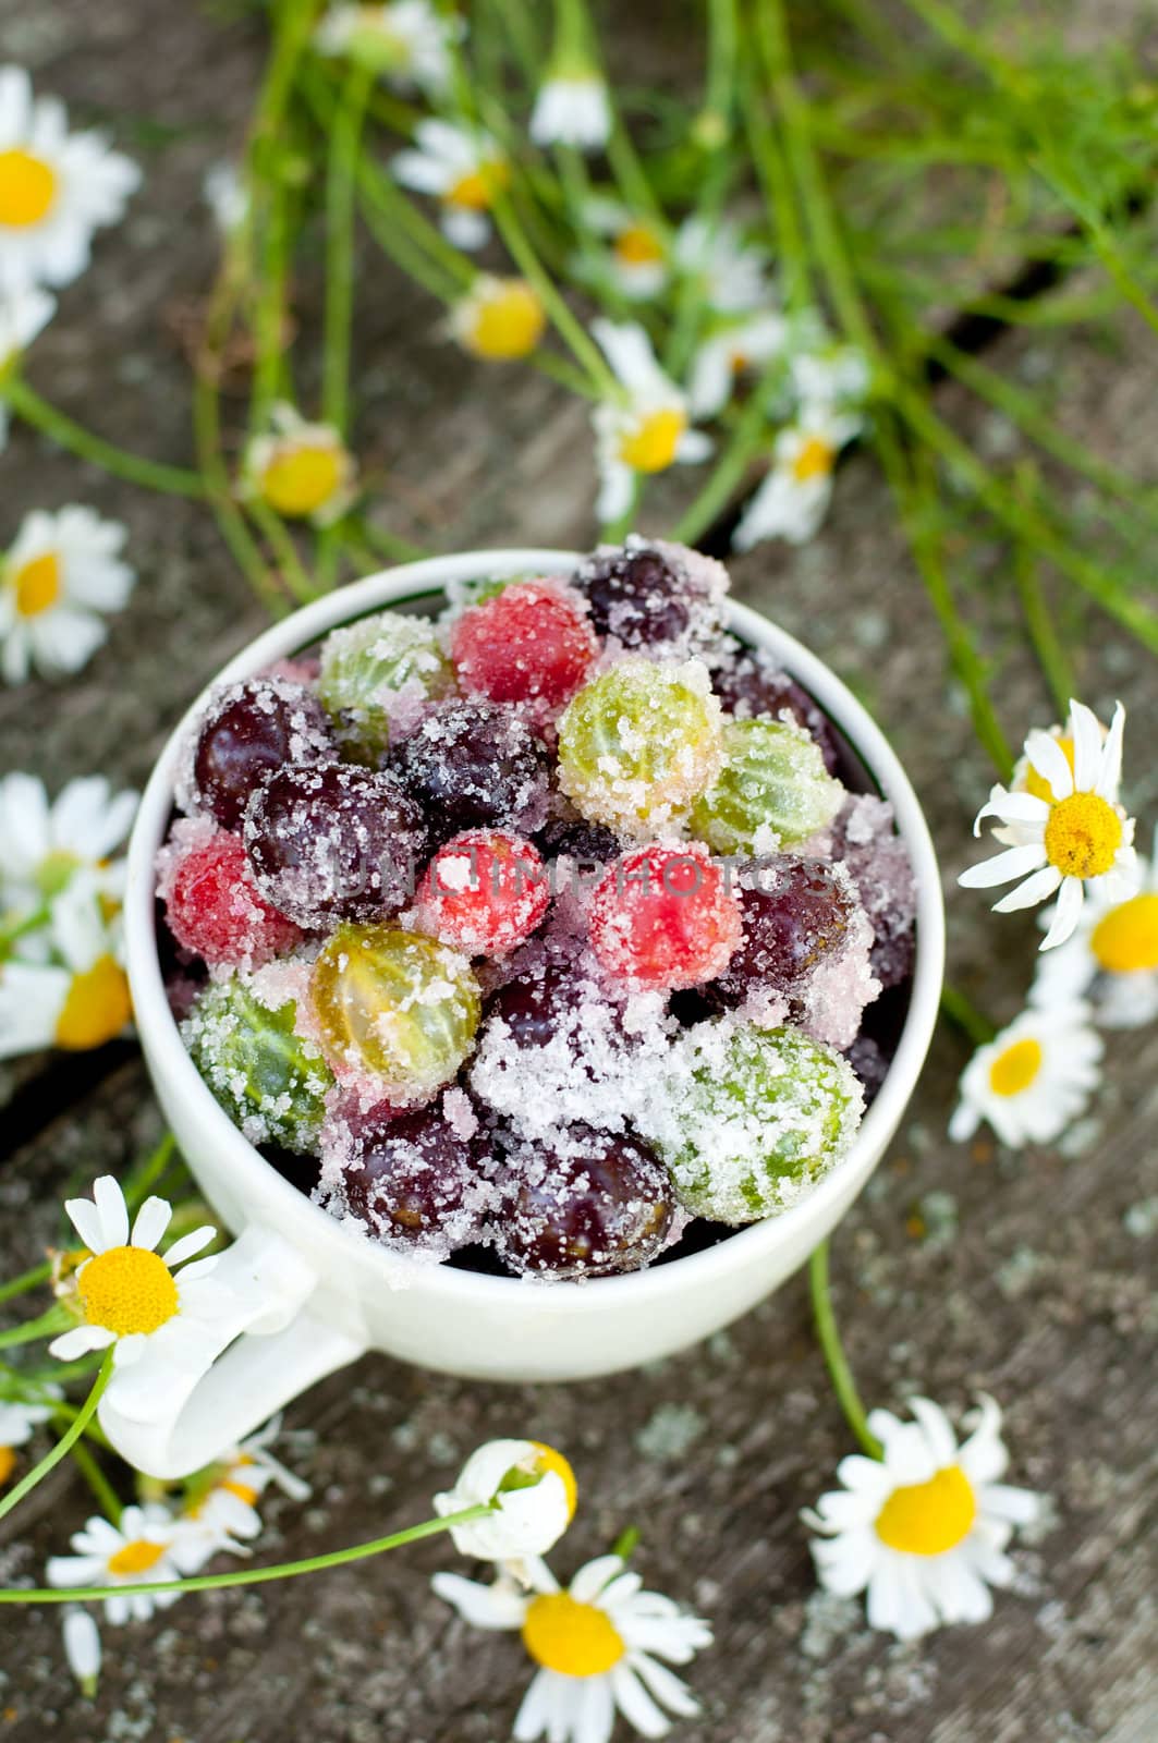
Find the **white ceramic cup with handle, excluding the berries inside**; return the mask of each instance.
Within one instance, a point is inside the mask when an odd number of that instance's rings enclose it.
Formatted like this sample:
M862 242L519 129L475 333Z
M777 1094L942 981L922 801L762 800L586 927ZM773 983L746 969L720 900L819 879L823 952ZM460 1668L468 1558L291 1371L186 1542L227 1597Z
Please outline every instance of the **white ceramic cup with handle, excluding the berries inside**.
M335 624L382 607L427 608L453 580L569 573L569 551L478 551L371 575L295 612L220 673L246 678ZM270 1168L218 1107L169 1013L153 926L153 859L169 828L181 746L199 697L153 769L129 845L126 939L136 1025L157 1098L209 1204L237 1236L218 1276L255 1302L232 1342L188 1380L164 1421L106 1400L101 1426L138 1469L183 1476L235 1445L324 1373L382 1349L481 1380L579 1380L633 1368L708 1337L769 1295L841 1220L893 1136L917 1082L943 971L940 875L917 798L865 709L827 666L743 605L731 627L816 697L891 800L917 877L917 959L909 1014L884 1088L846 1159L799 1204L706 1251L630 1276L535 1283L398 1258L342 1227ZM256 1285L256 1288L253 1288ZM242 1335L235 1335L241 1330ZM221 1340L225 1342L225 1339Z

